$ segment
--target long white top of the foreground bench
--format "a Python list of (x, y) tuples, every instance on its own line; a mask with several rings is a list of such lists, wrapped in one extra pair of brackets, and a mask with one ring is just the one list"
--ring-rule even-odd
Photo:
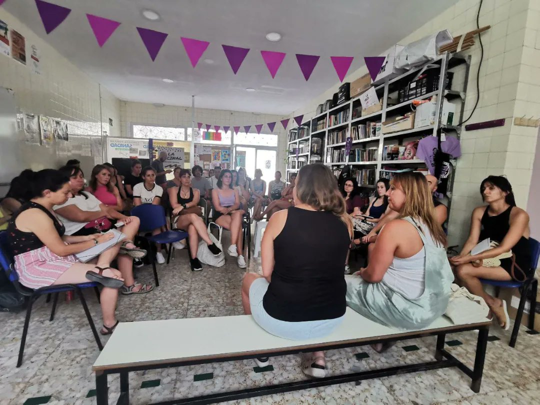
[[(483, 318), (468, 325), (484, 326), (491, 321)], [(159, 365), (174, 361), (219, 358), (245, 355), (246, 352), (264, 354), (279, 349), (309, 348), (321, 344), (362, 342), (362, 340), (396, 338), (440, 329), (458, 329), (441, 316), (425, 329), (403, 332), (370, 321), (347, 308), (341, 325), (322, 339), (288, 340), (278, 338), (262, 329), (251, 315), (220, 316), (215, 318), (187, 318), (162, 321), (123, 322), (99, 354), (92, 369)], [(140, 350), (144, 347), (144, 350)]]

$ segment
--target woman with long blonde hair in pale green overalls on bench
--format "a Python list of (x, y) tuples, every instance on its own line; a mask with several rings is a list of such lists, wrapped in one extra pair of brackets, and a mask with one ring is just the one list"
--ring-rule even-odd
[(382, 228), (368, 267), (345, 276), (347, 305), (386, 326), (423, 328), (448, 306), (454, 275), (446, 235), (421, 173), (396, 174), (387, 195), (399, 217)]

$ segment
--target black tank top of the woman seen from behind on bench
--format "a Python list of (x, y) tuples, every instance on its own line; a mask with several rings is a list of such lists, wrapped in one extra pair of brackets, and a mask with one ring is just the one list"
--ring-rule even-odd
[(343, 268), (347, 227), (331, 212), (288, 208), (274, 239), (274, 271), (262, 301), (265, 311), (288, 322), (335, 319), (345, 314)]

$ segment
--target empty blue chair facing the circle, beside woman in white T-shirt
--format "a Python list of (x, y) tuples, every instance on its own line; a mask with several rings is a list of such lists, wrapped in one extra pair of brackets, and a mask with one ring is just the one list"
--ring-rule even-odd
[(155, 244), (165, 244), (168, 246), (167, 264), (171, 259), (171, 247), (173, 242), (179, 242), (187, 238), (187, 232), (184, 231), (169, 231), (167, 230), (167, 220), (165, 219), (165, 210), (161, 205), (142, 204), (137, 207), (133, 207), (131, 210), (133, 217), (140, 219), (139, 232), (152, 232), (154, 229), (165, 227), (165, 232), (161, 232), (157, 235), (148, 237), (140, 237), (141, 240), (146, 241), (150, 258), (152, 259), (152, 268), (154, 271), (154, 280), (156, 281), (156, 287), (159, 287), (158, 272), (156, 269), (156, 257), (152, 253), (152, 246), (150, 242)]

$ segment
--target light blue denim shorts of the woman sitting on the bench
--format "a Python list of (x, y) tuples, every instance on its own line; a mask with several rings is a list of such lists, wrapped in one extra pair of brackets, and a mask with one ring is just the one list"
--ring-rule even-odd
[(323, 338), (332, 333), (345, 317), (343, 315), (335, 319), (302, 322), (288, 322), (272, 318), (262, 306), (262, 298), (265, 296), (268, 286), (269, 283), (265, 278), (261, 277), (253, 281), (253, 284), (249, 287), (249, 306), (251, 306), (251, 313), (255, 322), (266, 332), (279, 336), (279, 338), (290, 340)]

